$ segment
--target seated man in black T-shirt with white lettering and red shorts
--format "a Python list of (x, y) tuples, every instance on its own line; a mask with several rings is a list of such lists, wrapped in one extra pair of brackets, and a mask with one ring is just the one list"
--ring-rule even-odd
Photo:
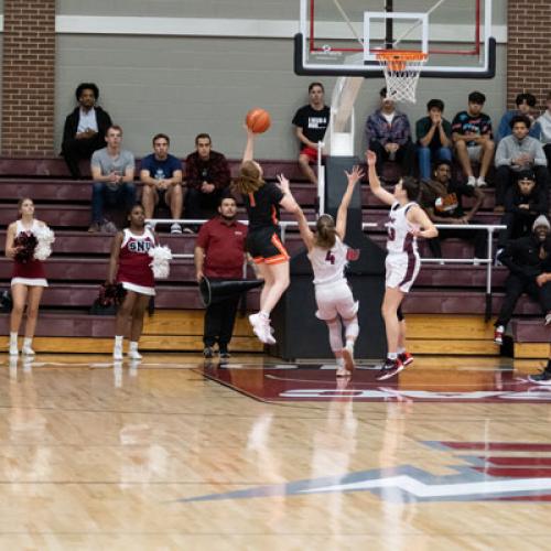
[(299, 166), (314, 184), (317, 184), (317, 176), (310, 164), (317, 163), (317, 142), (323, 141), (331, 116), (331, 109), (324, 104), (324, 93), (323, 84), (312, 83), (309, 86), (309, 105), (301, 107), (293, 117), (301, 148)]

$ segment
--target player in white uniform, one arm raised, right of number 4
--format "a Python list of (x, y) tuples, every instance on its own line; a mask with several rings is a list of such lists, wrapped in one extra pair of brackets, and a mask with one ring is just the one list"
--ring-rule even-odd
[(425, 212), (415, 203), (419, 196), (419, 182), (404, 177), (395, 186), (391, 194), (380, 185), (375, 170), (377, 155), (367, 151), (369, 186), (382, 203), (390, 205), (387, 226), (387, 260), (385, 299), (382, 317), (387, 332), (388, 356), (382, 365), (378, 380), (388, 379), (400, 372), (413, 361), (413, 356), (406, 350), (406, 321), (400, 304), (419, 273), (421, 262), (417, 248), (419, 236), (430, 239), (439, 235)]

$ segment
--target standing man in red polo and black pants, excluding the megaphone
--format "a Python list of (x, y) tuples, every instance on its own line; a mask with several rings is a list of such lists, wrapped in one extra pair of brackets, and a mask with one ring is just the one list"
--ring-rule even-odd
[[(195, 242), (195, 271), (198, 282), (203, 276), (210, 281), (244, 277), (247, 226), (236, 220), (236, 199), (223, 196), (218, 215), (203, 225)], [(205, 358), (213, 357), (216, 343), (220, 358), (229, 358), (228, 344), (234, 333), (238, 304), (239, 295), (207, 306), (203, 336)]]

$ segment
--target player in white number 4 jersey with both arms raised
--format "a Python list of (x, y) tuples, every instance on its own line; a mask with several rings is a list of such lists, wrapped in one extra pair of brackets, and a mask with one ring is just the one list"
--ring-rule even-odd
[[(352, 375), (354, 370), (354, 343), (359, 333), (358, 302), (354, 300), (346, 281), (344, 270), (348, 263), (348, 247), (343, 242), (346, 234), (346, 218), (354, 186), (364, 177), (364, 172), (354, 166), (350, 173), (345, 172), (348, 186), (337, 210), (336, 223), (332, 216), (324, 214), (317, 218), (314, 235), (300, 209), (295, 216), (307, 256), (314, 271), (316, 317), (327, 324), (329, 345), (337, 360), (337, 377)], [(346, 345), (343, 346), (343, 325)]]

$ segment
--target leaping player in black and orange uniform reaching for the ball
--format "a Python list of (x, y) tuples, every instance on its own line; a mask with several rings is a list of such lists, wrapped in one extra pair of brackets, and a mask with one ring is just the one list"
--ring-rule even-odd
[(270, 326), (270, 313), (289, 287), (289, 255), (281, 242), (279, 212), (283, 207), (295, 213), (299, 205), (289, 191), (289, 181), (278, 176), (279, 185), (264, 182), (262, 168), (252, 160), (255, 134), (247, 128), (239, 176), (235, 188), (242, 195), (249, 217), (247, 251), (264, 280), (260, 293), (260, 311), (249, 315), (252, 331), (264, 344), (276, 344)]

